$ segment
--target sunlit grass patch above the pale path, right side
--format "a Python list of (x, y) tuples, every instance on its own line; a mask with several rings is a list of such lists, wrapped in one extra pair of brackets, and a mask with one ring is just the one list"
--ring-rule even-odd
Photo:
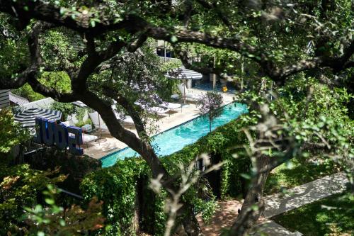
[(265, 183), (264, 194), (278, 193), (282, 189), (292, 189), (323, 176), (339, 172), (333, 162), (314, 164), (292, 159), (275, 168)]

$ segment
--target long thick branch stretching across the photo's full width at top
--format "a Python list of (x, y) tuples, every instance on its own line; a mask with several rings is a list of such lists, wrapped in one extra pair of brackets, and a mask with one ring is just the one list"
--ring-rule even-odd
[[(144, 37), (150, 36), (155, 39), (166, 40), (172, 44), (176, 42), (201, 43), (210, 47), (233, 50), (258, 62), (265, 73), (278, 84), (283, 84), (285, 79), (290, 75), (307, 69), (331, 67), (333, 72), (339, 72), (353, 65), (353, 63), (345, 63), (348, 57), (353, 54), (353, 52), (350, 53), (352, 50), (348, 50), (348, 53), (340, 58), (341, 60), (338, 60), (338, 58), (314, 57), (310, 60), (303, 60), (296, 64), (278, 68), (263, 49), (248, 45), (237, 38), (220, 38), (188, 29), (168, 30), (166, 28), (152, 26), (150, 23), (147, 23), (147, 21), (144, 21), (143, 18), (135, 15), (127, 15), (118, 23), (115, 23), (113, 20), (105, 19), (103, 21), (102, 19), (95, 27), (91, 27), (88, 23), (91, 21), (90, 16), (86, 16), (84, 13), (76, 13), (76, 18), (73, 19), (69, 17), (69, 13), (62, 15), (58, 7), (45, 4), (42, 1), (31, 2), (28, 11), (24, 10), (25, 7), (28, 7), (26, 4), (28, 4), (27, 1), (14, 2), (3, 0), (0, 1), (0, 11), (10, 13), (18, 18), (37, 18), (48, 21), (58, 26), (72, 28), (73, 30), (86, 33), (93, 37), (110, 30), (125, 29), (128, 33), (143, 32)], [(345, 66), (343, 66), (343, 63)], [(92, 64), (88, 63), (86, 69), (90, 67), (92, 67)], [(84, 73), (84, 75), (86, 74), (84, 71), (82, 73)]]

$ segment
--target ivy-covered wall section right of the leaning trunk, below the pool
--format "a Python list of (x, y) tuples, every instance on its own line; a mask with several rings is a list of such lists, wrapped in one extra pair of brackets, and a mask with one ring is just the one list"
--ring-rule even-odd
[(241, 186), (244, 181), (242, 176), (249, 172), (251, 164), (244, 153), (244, 144), (248, 140), (241, 128), (251, 125), (251, 122), (246, 116), (241, 116), (241, 118), (233, 120), (227, 125), (217, 128), (209, 135), (200, 138), (193, 145), (188, 145), (183, 150), (164, 157), (164, 163), (168, 164), (169, 167), (176, 167), (176, 163), (188, 163), (202, 153), (210, 154), (211, 158), (219, 155), (221, 157), (220, 161), (226, 161), (222, 166), (219, 183), (221, 198), (239, 196), (242, 193)]

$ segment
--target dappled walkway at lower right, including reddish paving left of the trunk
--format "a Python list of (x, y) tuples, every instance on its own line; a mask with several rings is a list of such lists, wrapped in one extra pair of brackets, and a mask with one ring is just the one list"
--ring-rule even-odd
[[(265, 196), (264, 218), (260, 219), (260, 223), (252, 230), (253, 233), (250, 233), (250, 235), (264, 235), (262, 232), (268, 236), (302, 235), (299, 232), (290, 232), (268, 218), (318, 201), (321, 198), (341, 193), (346, 189), (347, 182), (346, 174), (339, 172), (290, 189), (286, 195), (275, 193)], [(241, 208), (241, 204), (241, 202), (235, 200), (219, 202), (217, 211), (208, 225), (202, 223), (199, 218), (198, 221), (204, 235), (216, 236), (222, 232), (222, 228), (230, 227), (236, 219), (237, 209)]]

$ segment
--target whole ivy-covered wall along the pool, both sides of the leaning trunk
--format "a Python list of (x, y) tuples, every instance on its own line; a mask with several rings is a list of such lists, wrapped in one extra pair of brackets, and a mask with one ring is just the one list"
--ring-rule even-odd
[[(173, 174), (178, 172), (178, 163), (188, 164), (202, 153), (211, 154), (211, 157), (218, 154), (221, 161), (227, 161), (220, 173), (221, 197), (238, 196), (242, 193), (243, 183), (240, 174), (249, 170), (249, 160), (239, 152), (246, 143), (246, 137), (240, 129), (250, 122), (246, 118), (233, 120), (193, 145), (161, 157), (161, 161)], [(236, 150), (239, 154), (237, 158), (232, 155)], [(147, 164), (139, 158), (120, 160), (113, 167), (86, 175), (81, 182), (81, 193), (87, 201), (93, 196), (104, 201), (103, 214), (106, 223), (110, 225), (110, 229), (106, 231), (107, 235), (132, 235), (137, 231), (137, 227), (153, 235), (161, 235), (164, 232), (164, 193), (161, 196), (152, 193), (148, 187), (150, 176)], [(198, 189), (190, 189), (185, 194), (185, 200), (190, 201), (200, 213), (210, 213), (211, 206), (201, 201), (196, 196), (197, 192)]]

